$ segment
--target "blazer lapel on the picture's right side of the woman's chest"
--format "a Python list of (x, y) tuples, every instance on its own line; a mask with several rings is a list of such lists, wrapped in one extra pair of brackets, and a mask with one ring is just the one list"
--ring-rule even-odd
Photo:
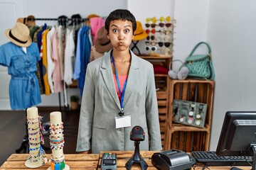
[(132, 90), (134, 89), (134, 86), (139, 79), (139, 60), (131, 50), (130, 50), (130, 53), (132, 55), (132, 62), (131, 62), (131, 67), (129, 69), (127, 86), (124, 92), (124, 106), (125, 106), (125, 103), (127, 103), (129, 96), (131, 96)]

